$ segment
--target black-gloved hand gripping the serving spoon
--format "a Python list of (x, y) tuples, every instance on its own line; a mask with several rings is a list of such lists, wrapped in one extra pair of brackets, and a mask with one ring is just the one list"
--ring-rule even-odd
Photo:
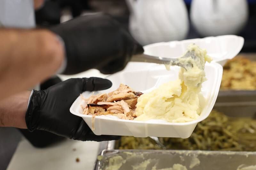
[(119, 23), (102, 13), (74, 18), (50, 28), (64, 41), (67, 67), (63, 74), (98, 69), (103, 74), (123, 70), (142, 46)]

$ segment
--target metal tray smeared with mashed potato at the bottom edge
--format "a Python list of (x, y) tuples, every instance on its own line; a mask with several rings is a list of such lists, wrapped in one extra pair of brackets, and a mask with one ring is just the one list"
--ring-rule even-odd
[[(104, 150), (94, 170), (106, 170), (110, 158), (121, 156), (125, 161), (120, 170), (133, 169), (148, 162), (147, 170), (170, 168), (173, 164), (186, 166), (190, 170), (242, 170), (256, 168), (256, 152), (229, 151), (178, 151), (178, 150)], [(140, 168), (138, 168), (140, 169)], [(144, 169), (144, 168), (142, 168)]]

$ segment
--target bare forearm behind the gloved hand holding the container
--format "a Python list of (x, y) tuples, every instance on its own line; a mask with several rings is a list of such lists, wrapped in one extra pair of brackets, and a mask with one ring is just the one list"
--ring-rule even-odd
[(30, 91), (20, 92), (0, 101), (0, 127), (26, 129), (25, 115)]

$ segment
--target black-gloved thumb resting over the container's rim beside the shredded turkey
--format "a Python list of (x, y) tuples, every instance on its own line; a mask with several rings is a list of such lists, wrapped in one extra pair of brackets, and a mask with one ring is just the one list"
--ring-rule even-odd
[(112, 82), (104, 78), (83, 78), (83, 92), (84, 91), (98, 91), (105, 90), (112, 86)]

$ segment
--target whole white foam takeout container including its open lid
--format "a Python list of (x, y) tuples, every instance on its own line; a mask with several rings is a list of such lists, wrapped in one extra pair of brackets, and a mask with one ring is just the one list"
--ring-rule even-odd
[[(200, 92), (204, 97), (204, 104), (197, 120), (185, 123), (170, 123), (164, 120), (139, 122), (121, 120), (110, 115), (101, 115), (95, 118), (95, 129), (92, 130), (93, 133), (96, 135), (134, 137), (189, 137), (196, 124), (207, 118), (212, 111), (220, 88), (222, 78), (221, 66), (240, 52), (244, 45), (244, 38), (236, 35), (223, 35), (202, 39), (160, 42), (144, 46), (144, 53), (177, 58), (186, 51), (187, 46), (191, 43), (195, 43), (200, 48), (206, 48), (208, 54), (213, 59), (212, 63), (206, 63), (205, 65), (206, 78), (208, 80), (203, 83), (202, 92)], [(120, 83), (129, 85), (136, 91), (149, 92), (164, 82), (178, 78), (179, 69), (179, 67), (175, 66), (170, 71), (167, 71), (163, 65), (132, 62), (123, 71), (108, 76), (113, 86), (108, 90), (101, 91), (101, 93), (116, 90)], [(97, 93), (95, 92), (95, 94)], [(82, 95), (88, 98), (92, 95), (92, 92), (84, 92)], [(82, 114), (81, 104), (83, 102), (79, 96), (70, 107), (70, 112), (82, 117), (92, 129), (92, 116)]]

